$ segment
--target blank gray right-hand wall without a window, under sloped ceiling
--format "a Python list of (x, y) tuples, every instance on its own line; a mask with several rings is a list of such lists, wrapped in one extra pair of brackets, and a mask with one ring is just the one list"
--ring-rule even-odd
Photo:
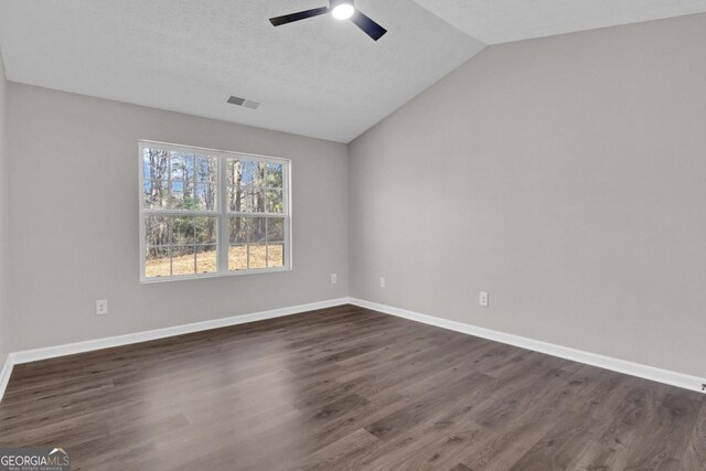
[(706, 375), (703, 44), (702, 14), (491, 46), (353, 141), (352, 296)]

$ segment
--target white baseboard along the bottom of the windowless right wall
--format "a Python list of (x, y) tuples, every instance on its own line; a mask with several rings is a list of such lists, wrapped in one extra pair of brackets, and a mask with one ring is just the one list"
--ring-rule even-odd
[(361, 308), (372, 309), (374, 311), (397, 315), (399, 318), (409, 319), (411, 321), (422, 322), (425, 324), (435, 325), (469, 335), (480, 336), (483, 339), (506, 343), (509, 345), (520, 346), (522, 349), (532, 350), (539, 353), (546, 353), (547, 355), (558, 356), (561, 358), (571, 360), (574, 362), (579, 362), (631, 376), (638, 376), (644, 379), (655, 381), (657, 383), (682, 387), (684, 389), (703, 393), (702, 385), (706, 384), (706, 378), (699, 378), (697, 376), (692, 376), (684, 373), (676, 373), (668, 370), (662, 370), (654, 366), (629, 362), (625, 360), (619, 360), (610, 356), (599, 355), (596, 353), (585, 352), (582, 350), (576, 350), (568, 346), (556, 345), (554, 343), (542, 342), (520, 335), (483, 329), (462, 322), (450, 321), (448, 319), (436, 318), (434, 315), (421, 314), (419, 312), (413, 312), (405, 309), (393, 308), (391, 306), (378, 304), (376, 302), (364, 301), (362, 299), (350, 298), (349, 302)]

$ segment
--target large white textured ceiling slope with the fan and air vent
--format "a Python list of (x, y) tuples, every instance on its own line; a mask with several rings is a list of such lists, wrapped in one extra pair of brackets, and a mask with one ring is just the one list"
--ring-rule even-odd
[[(372, 41), (328, 0), (0, 0), (10, 81), (349, 142), (483, 44), (413, 0), (357, 0)], [(226, 105), (229, 95), (261, 101)]]

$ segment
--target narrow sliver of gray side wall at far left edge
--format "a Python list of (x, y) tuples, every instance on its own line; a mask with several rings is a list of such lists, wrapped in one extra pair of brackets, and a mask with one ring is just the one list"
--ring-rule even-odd
[(8, 244), (8, 211), (7, 197), (7, 152), (6, 152), (6, 116), (7, 116), (7, 81), (4, 77), (4, 63), (0, 53), (0, 371), (4, 366), (9, 353), (8, 339), (8, 302), (7, 302), (7, 244)]

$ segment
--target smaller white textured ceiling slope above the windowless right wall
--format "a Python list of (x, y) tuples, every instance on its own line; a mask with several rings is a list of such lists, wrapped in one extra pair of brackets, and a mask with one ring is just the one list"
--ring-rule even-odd
[(706, 0), (415, 0), (485, 44), (706, 12)]

